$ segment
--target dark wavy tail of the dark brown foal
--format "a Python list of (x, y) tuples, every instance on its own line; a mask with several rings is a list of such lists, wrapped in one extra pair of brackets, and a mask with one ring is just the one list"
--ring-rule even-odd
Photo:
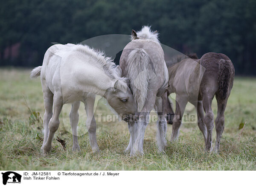
[(218, 94), (221, 99), (227, 97), (227, 89), (230, 84), (231, 73), (231, 61), (221, 59), (219, 61), (218, 69)]

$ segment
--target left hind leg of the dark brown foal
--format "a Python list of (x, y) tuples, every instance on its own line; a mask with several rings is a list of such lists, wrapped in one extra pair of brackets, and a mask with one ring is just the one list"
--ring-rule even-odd
[(212, 151), (212, 129), (214, 126), (213, 125), (214, 114), (212, 112), (212, 107), (211, 107), (212, 99), (213, 99), (213, 96), (203, 96), (203, 106), (205, 110), (204, 123), (207, 128), (205, 151)]

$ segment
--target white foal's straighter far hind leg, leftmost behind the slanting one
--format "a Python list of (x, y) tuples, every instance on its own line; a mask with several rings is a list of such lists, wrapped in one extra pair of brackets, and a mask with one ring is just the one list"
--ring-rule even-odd
[(53, 102), (53, 93), (49, 90), (48, 87), (44, 88), (44, 141), (41, 147), (41, 151), (44, 151), (44, 144), (47, 141), (49, 135), (49, 121), (52, 118), (52, 102)]

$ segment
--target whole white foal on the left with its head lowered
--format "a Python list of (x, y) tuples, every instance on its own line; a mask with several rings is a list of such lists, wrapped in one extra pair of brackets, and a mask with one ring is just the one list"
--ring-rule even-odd
[[(41, 150), (51, 150), (52, 138), (59, 126), (62, 106), (72, 103), (70, 124), (73, 133), (73, 151), (80, 150), (77, 139), (78, 109), (84, 103), (86, 126), (93, 151), (99, 151), (96, 141), (96, 121), (93, 113), (95, 94), (107, 99), (120, 115), (137, 111), (133, 95), (121, 69), (111, 58), (84, 45), (53, 45), (44, 55), (43, 65), (31, 72), (31, 78), (41, 75), (44, 92), (44, 142)], [(53, 105), (53, 113), (52, 113)], [(127, 116), (128, 117), (128, 116)]]

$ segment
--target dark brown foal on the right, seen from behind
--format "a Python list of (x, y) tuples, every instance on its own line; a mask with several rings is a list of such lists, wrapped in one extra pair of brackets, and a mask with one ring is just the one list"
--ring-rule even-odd
[[(166, 63), (168, 64), (168, 63)], [(168, 67), (168, 66), (167, 66)], [(168, 67), (169, 88), (166, 93), (176, 93), (176, 110), (172, 123), (172, 140), (177, 139), (187, 102), (195, 105), (198, 114), (198, 127), (204, 135), (205, 150), (212, 151), (212, 130), (214, 114), (212, 99), (216, 97), (218, 113), (215, 119), (216, 144), (219, 150), (221, 135), (224, 131), (224, 111), (227, 99), (233, 87), (235, 69), (231, 60), (224, 54), (209, 52), (200, 59), (186, 58)], [(173, 114), (172, 106), (167, 99), (166, 113)], [(180, 119), (177, 119), (180, 118)]]

